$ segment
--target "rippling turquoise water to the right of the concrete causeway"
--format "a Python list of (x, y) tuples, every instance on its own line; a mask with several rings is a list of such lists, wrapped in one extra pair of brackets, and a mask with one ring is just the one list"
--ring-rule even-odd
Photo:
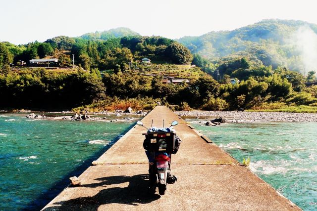
[(248, 123), (208, 127), (201, 133), (305, 211), (317, 210), (317, 123)]

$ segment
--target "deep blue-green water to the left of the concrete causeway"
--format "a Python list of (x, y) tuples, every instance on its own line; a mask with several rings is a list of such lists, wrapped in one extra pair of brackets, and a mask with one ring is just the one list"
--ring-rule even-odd
[(40, 210), (133, 122), (29, 120), (0, 114), (0, 210)]

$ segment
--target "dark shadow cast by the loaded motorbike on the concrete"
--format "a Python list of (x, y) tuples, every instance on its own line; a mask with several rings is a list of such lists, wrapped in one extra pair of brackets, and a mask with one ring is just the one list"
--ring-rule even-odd
[[(138, 174), (134, 176), (108, 176), (98, 178), (100, 182), (81, 185), (80, 187), (96, 188), (104, 186), (93, 197), (79, 197), (68, 201), (56, 202), (53, 207), (47, 208), (44, 211), (68, 211), (68, 210), (98, 210), (101, 205), (106, 204), (126, 204), (138, 206), (138, 204), (148, 204), (158, 200), (158, 194), (150, 194), (148, 192), (149, 178), (147, 174)], [(129, 182), (127, 187), (110, 187), (108, 185), (116, 185)], [(79, 188), (80, 188), (79, 187)]]

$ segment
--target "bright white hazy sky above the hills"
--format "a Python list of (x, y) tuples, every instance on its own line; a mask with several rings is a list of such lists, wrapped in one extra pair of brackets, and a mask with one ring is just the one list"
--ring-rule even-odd
[(315, 0), (0, 0), (0, 41), (44, 42), (117, 27), (174, 39), (270, 18), (317, 24), (316, 8)]

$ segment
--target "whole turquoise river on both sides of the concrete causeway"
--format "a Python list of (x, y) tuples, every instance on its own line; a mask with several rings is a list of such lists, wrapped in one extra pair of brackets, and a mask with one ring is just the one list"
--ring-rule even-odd
[[(250, 169), (300, 208), (317, 210), (317, 123), (186, 121), (239, 162), (250, 157)], [(133, 124), (0, 114), (0, 211), (43, 208)]]

